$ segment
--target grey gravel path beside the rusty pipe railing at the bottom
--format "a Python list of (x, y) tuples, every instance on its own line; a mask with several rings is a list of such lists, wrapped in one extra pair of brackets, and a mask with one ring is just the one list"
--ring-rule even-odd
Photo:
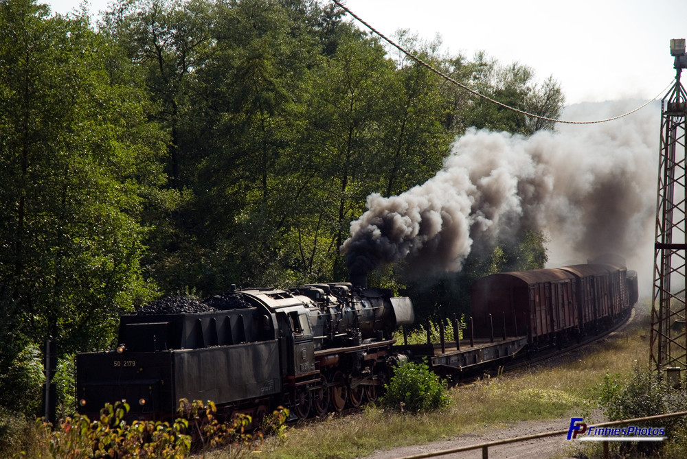
[[(477, 445), (505, 438), (515, 438), (543, 432), (567, 429), (570, 426), (570, 418), (548, 419), (545, 421), (521, 421), (506, 427), (485, 427), (483, 432), (478, 434), (462, 435), (460, 438), (450, 438), (440, 440), (427, 445), (415, 445), (398, 447), (386, 451), (377, 451), (372, 456), (364, 459), (396, 459), (416, 454), (427, 454), (431, 452), (444, 451), (447, 449), (462, 446)], [(526, 440), (508, 445), (498, 445), (488, 449), (490, 459), (547, 459), (547, 458), (566, 458), (567, 455), (574, 454), (571, 442), (566, 440), (565, 435), (538, 438), (537, 440)], [(481, 459), (482, 449), (466, 451), (462, 453), (447, 454), (438, 456), (440, 458), (451, 459)]]

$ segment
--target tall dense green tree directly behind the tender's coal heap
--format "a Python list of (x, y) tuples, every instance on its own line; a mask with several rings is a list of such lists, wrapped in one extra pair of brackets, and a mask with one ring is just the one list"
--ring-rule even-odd
[(306, 7), (245, 0), (212, 10), (212, 49), (183, 110), (179, 150), (192, 170), (183, 239), (154, 267), (167, 290), (286, 282), (281, 239), (308, 176), (295, 146), (300, 98), (319, 54)]

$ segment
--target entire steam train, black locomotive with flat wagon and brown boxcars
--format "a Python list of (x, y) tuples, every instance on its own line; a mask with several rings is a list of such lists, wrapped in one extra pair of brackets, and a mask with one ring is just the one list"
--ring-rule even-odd
[(412, 303), (390, 290), (351, 283), (233, 290), (209, 298), (207, 311), (122, 316), (116, 350), (76, 357), (77, 408), (94, 416), (126, 399), (131, 419), (169, 419), (185, 398), (214, 401), (227, 417), (260, 419), (284, 405), (306, 419), (376, 400), (398, 362), (423, 360), (459, 379), (593, 336), (637, 296), (636, 273), (622, 259), (493, 274), (473, 285), (463, 340), (441, 333), (440, 343), (409, 345), (396, 344), (393, 333), (414, 322)]

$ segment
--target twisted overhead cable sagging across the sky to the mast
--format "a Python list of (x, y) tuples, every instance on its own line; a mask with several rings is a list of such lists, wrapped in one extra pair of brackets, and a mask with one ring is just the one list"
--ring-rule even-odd
[(406, 56), (408, 56), (409, 58), (411, 58), (411, 59), (414, 60), (415, 62), (418, 62), (418, 64), (420, 64), (420, 65), (422, 65), (423, 67), (427, 68), (429, 71), (431, 71), (431, 72), (433, 72), (433, 73), (436, 73), (436, 74), (439, 75), (441, 78), (444, 78), (444, 80), (447, 80), (448, 82), (451, 82), (451, 83), (455, 84), (456, 86), (459, 86), (460, 88), (464, 89), (465, 91), (468, 91), (469, 93), (471, 93), (471, 94), (473, 94), (473, 95), (476, 95), (477, 97), (481, 97), (482, 99), (484, 99), (484, 100), (486, 100), (486, 101), (488, 101), (488, 102), (491, 102), (491, 103), (493, 103), (493, 104), (496, 104), (496, 105), (498, 105), (498, 106), (500, 106), (500, 107), (502, 107), (502, 108), (506, 108), (506, 109), (508, 109), (508, 110), (512, 110), (512, 111), (515, 112), (515, 113), (520, 113), (521, 115), (526, 115), (526, 116), (528, 116), (528, 117), (541, 119), (541, 120), (543, 120), (543, 121), (551, 121), (551, 122), (553, 122), (553, 123), (566, 123), (566, 124), (595, 124), (595, 123), (605, 123), (605, 122), (607, 122), (607, 121), (613, 121), (614, 119), (620, 119), (620, 118), (622, 118), (622, 117), (627, 117), (627, 115), (631, 115), (632, 113), (635, 113), (636, 111), (641, 110), (642, 108), (644, 108), (644, 107), (646, 107), (647, 105), (651, 104), (651, 102), (653, 102), (653, 101), (655, 101), (656, 99), (658, 99), (658, 98), (666, 91), (666, 89), (668, 89), (668, 86), (671, 86), (671, 84), (673, 84), (673, 82), (669, 83), (664, 89), (661, 90), (660, 93), (658, 93), (655, 97), (653, 97), (653, 99), (651, 99), (651, 100), (649, 100), (648, 102), (646, 102), (646, 104), (643, 104), (642, 106), (639, 106), (639, 107), (635, 108), (634, 110), (630, 110), (629, 112), (623, 113), (622, 115), (618, 115), (618, 116), (616, 116), (616, 117), (607, 118), (607, 119), (598, 119), (598, 120), (595, 120), (595, 121), (570, 121), (570, 120), (565, 120), (565, 119), (556, 119), (556, 118), (543, 117), (543, 116), (537, 115), (537, 114), (535, 114), (535, 113), (526, 112), (525, 110), (520, 110), (519, 108), (515, 108), (515, 107), (513, 107), (513, 106), (506, 105), (506, 104), (504, 104), (503, 102), (499, 102), (499, 101), (497, 101), (496, 99), (492, 99), (491, 97), (488, 97), (487, 95), (484, 95), (484, 94), (482, 94), (482, 93), (479, 93), (479, 92), (475, 91), (474, 89), (471, 89), (469, 86), (466, 86), (465, 84), (462, 84), (462, 83), (459, 82), (458, 80), (454, 80), (454, 79), (451, 78), (449, 75), (443, 73), (443, 72), (440, 71), (439, 69), (436, 69), (436, 67), (433, 67), (431, 64), (428, 64), (427, 62), (425, 62), (424, 60), (420, 59), (420, 58), (419, 58), (418, 56), (416, 56), (415, 54), (412, 54), (412, 52), (408, 51), (407, 49), (405, 49), (405, 48), (402, 47), (401, 45), (398, 45), (398, 43), (394, 42), (394, 40), (388, 38), (387, 36), (385, 36), (384, 34), (382, 34), (381, 32), (379, 32), (379, 30), (376, 30), (374, 27), (372, 27), (372, 25), (370, 25), (370, 24), (368, 24), (367, 22), (365, 22), (363, 19), (361, 19), (360, 16), (357, 16), (357, 14), (355, 14), (354, 12), (352, 12), (348, 7), (346, 7), (346, 5), (343, 5), (343, 3), (341, 3), (340, 1), (338, 1), (338, 0), (332, 0), (332, 1), (333, 1), (333, 3), (335, 3), (337, 6), (339, 6), (339, 8), (341, 8), (343, 11), (345, 11), (345, 12), (348, 13), (350, 16), (352, 16), (352, 18), (356, 19), (359, 23), (363, 24), (365, 27), (367, 27), (368, 29), (370, 29), (374, 34), (376, 34), (377, 36), (379, 36), (379, 38), (382, 38), (382, 39), (385, 40), (387, 43), (389, 43), (390, 45), (392, 45), (393, 47), (395, 47), (396, 49), (398, 49), (398, 51), (401, 51), (403, 54), (405, 54)]

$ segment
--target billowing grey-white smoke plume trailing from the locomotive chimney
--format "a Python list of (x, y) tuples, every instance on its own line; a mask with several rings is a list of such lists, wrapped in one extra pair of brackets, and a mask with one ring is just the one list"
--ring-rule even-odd
[[(601, 119), (639, 104), (578, 104), (563, 117)], [(659, 139), (657, 102), (528, 138), (469, 130), (423, 185), (368, 196), (343, 244), (348, 268), (365, 274), (405, 260), (418, 272), (458, 271), (471, 251), (532, 228), (550, 239), (552, 265), (613, 252), (651, 281)]]

